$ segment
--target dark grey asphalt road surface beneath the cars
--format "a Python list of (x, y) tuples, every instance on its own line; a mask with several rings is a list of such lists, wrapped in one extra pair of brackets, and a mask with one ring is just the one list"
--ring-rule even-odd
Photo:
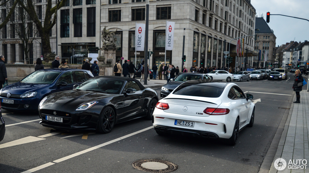
[[(45, 168), (35, 172), (138, 173), (142, 171), (132, 167), (134, 161), (162, 159), (175, 163), (178, 169), (174, 172), (179, 173), (256, 173), (284, 108), (289, 107), (294, 95), (294, 78), (290, 73), (289, 77), (282, 81), (235, 82), (244, 92), (252, 94), (253, 100), (261, 100), (256, 103), (254, 126), (240, 131), (235, 146), (228, 146), (219, 139), (159, 136), (151, 128), (151, 121), (145, 119), (116, 124), (109, 134), (60, 132), (42, 127), (39, 121), (11, 125), (39, 117), (31, 112), (11, 114), (2, 110), (6, 125), (11, 126), (6, 127), (6, 135), (0, 142), (0, 172), (19, 173), (43, 165)], [(159, 94), (160, 89), (156, 91)], [(57, 134), (41, 136), (52, 132)], [(18, 142), (23, 144), (16, 145)], [(1, 144), (9, 147), (1, 148)]]

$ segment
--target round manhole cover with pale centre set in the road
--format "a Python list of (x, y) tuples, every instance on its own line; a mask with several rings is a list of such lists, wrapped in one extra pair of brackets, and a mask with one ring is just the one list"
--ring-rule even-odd
[(142, 159), (132, 163), (135, 169), (145, 172), (172, 172), (177, 169), (177, 165), (171, 162), (158, 159)]

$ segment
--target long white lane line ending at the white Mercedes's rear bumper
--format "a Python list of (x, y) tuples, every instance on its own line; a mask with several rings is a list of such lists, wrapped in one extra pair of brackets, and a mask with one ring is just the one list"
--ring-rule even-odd
[(74, 154), (72, 154), (72, 155), (68, 155), (68, 156), (63, 157), (63, 158), (61, 158), (61, 159), (57, 159), (57, 160), (55, 160), (55, 161), (53, 161), (53, 162), (55, 162), (55, 163), (62, 162), (62, 161), (64, 161), (64, 160), (73, 158), (73, 157), (75, 157), (75, 156), (78, 156), (78, 155), (87, 153), (87, 152), (89, 152), (89, 151), (98, 149), (98, 148), (103, 147), (103, 146), (105, 146), (105, 145), (108, 145), (108, 144), (117, 142), (117, 141), (119, 141), (119, 140), (121, 140), (121, 139), (125, 139), (125, 138), (128, 138), (128, 137), (130, 137), (130, 136), (136, 135), (136, 134), (138, 134), (138, 133), (141, 133), (141, 132), (143, 132), (143, 131), (149, 130), (149, 129), (151, 129), (151, 128), (153, 128), (153, 126), (150, 126), (150, 127), (145, 128), (145, 129), (142, 129), (142, 130), (140, 130), (140, 131), (136, 131), (136, 132), (134, 132), (134, 133), (131, 133), (131, 134), (129, 134), (129, 135), (125, 135), (125, 136), (122, 136), (122, 137), (120, 137), (120, 138), (117, 138), (117, 139), (108, 141), (108, 142), (106, 142), (106, 143), (102, 143), (102, 144), (97, 145), (97, 146), (95, 146), (95, 147), (91, 147), (91, 148), (88, 148), (88, 149), (86, 149), (86, 150), (79, 151), (79, 152), (77, 152), (77, 153), (74, 153)]

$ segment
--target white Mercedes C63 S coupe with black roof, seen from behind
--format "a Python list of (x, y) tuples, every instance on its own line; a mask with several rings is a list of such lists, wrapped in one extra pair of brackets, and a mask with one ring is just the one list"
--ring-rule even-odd
[(191, 133), (205, 138), (224, 138), (235, 145), (239, 131), (253, 126), (253, 96), (235, 83), (190, 80), (161, 99), (153, 112), (159, 135)]

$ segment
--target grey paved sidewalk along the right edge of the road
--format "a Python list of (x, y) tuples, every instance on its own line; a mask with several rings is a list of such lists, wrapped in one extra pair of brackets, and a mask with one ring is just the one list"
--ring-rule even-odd
[[(273, 161), (278, 157), (286, 159), (289, 163), (290, 159), (306, 159), (309, 166), (309, 92), (305, 90), (300, 92), (300, 103), (292, 103), (289, 113), (286, 117), (283, 116), (281, 122), (285, 122), (284, 127), (280, 123), (278, 130), (282, 128), (280, 140), (276, 135), (271, 143), (269, 151), (266, 154), (265, 159), (260, 167), (259, 173), (309, 173), (309, 167), (307, 169), (288, 169), (284, 171), (277, 171), (273, 167)], [(293, 96), (293, 101), (296, 100), (296, 95)], [(282, 123), (283, 124), (283, 123)], [(272, 146), (273, 143), (278, 142), (277, 149)], [(288, 164), (289, 165), (289, 164)], [(298, 164), (299, 165), (299, 164)], [(302, 165), (302, 164), (301, 164)]]

